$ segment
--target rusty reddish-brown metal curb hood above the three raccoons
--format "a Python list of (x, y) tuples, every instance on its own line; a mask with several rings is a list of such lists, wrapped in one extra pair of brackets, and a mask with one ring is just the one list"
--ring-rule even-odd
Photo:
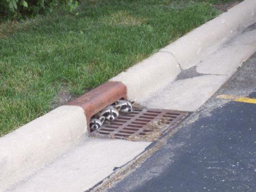
[(67, 105), (81, 106), (86, 114), (87, 129), (90, 133), (89, 123), (91, 117), (121, 98), (126, 99), (126, 87), (124, 84), (117, 81), (109, 81), (70, 101)]

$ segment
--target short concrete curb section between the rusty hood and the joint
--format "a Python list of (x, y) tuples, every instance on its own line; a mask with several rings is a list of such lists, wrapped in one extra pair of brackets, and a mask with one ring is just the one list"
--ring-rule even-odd
[(180, 71), (172, 54), (158, 52), (110, 80), (122, 82), (127, 97), (140, 102), (169, 79), (175, 79)]

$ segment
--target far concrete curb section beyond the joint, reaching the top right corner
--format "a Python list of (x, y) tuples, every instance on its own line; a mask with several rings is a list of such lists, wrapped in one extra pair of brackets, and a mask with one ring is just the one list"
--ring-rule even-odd
[(255, 21), (256, 1), (245, 0), (160, 51), (172, 53), (178, 59), (181, 68), (188, 69), (198, 61), (198, 56), (205, 49), (218, 46)]

